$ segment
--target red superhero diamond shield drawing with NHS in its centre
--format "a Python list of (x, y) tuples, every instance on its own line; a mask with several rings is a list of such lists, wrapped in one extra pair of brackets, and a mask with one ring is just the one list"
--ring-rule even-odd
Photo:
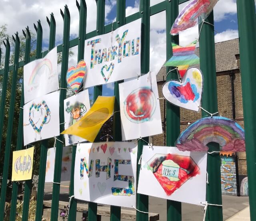
[(147, 164), (168, 196), (200, 174), (200, 168), (190, 156), (155, 154)]

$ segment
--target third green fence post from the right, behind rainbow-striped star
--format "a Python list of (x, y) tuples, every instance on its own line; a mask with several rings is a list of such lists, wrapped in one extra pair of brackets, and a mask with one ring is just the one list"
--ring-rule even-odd
[[(179, 36), (172, 36), (170, 29), (179, 13), (178, 0), (166, 0), (166, 59), (172, 55), (172, 42), (178, 44)], [(166, 67), (166, 81), (178, 79), (175, 67)], [(169, 71), (171, 71), (169, 73)], [(166, 146), (174, 146), (180, 134), (180, 108), (166, 102)], [(181, 202), (167, 200), (167, 220), (181, 221)]]

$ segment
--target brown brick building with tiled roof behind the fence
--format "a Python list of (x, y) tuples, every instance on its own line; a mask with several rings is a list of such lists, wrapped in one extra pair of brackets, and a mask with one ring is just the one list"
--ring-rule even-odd
[[(196, 54), (199, 56), (199, 48), (196, 48)], [(240, 57), (238, 39), (222, 41), (215, 44), (216, 57), (216, 76), (217, 76), (217, 94), (218, 94), (218, 111), (220, 115), (234, 118), (238, 124), (244, 127), (243, 106), (242, 106), (242, 88), (240, 75)], [(199, 67), (199, 65), (198, 65)], [(203, 73), (204, 74), (204, 73)], [(166, 81), (166, 67), (162, 67), (157, 75), (159, 97), (162, 95), (162, 85)], [(162, 125), (165, 125), (164, 106), (166, 100), (160, 99), (160, 109), (162, 115)], [(194, 122), (201, 118), (201, 111), (194, 112), (180, 108), (180, 130), (183, 131), (188, 122)], [(152, 136), (152, 143), (156, 146), (165, 146), (165, 133)], [(246, 154), (245, 152), (221, 154), (221, 175), (222, 193), (227, 195), (240, 195), (240, 183), (247, 176)], [(230, 164), (236, 168), (228, 174), (225, 173), (225, 165)], [(226, 178), (233, 176), (234, 179)], [(238, 176), (239, 175), (239, 176)], [(223, 183), (226, 181), (225, 183)], [(236, 184), (238, 185), (238, 191)], [(232, 188), (229, 188), (232, 186)], [(225, 189), (224, 189), (225, 188)], [(247, 190), (246, 190), (247, 191)]]

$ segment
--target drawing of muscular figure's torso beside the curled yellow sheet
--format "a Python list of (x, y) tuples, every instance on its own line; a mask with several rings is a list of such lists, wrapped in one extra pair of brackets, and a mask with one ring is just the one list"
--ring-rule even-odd
[[(74, 104), (70, 105), (70, 101), (66, 103), (66, 112), (70, 113), (70, 120), (68, 126), (73, 125), (78, 120), (82, 118), (82, 116), (86, 112), (86, 107), (83, 103), (76, 101)], [(68, 134), (69, 143), (73, 142), (73, 135)]]

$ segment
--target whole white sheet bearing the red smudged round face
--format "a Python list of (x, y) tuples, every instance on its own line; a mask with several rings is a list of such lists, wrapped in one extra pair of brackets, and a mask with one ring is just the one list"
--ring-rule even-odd
[(158, 88), (154, 73), (119, 84), (119, 93), (122, 140), (162, 133)]

